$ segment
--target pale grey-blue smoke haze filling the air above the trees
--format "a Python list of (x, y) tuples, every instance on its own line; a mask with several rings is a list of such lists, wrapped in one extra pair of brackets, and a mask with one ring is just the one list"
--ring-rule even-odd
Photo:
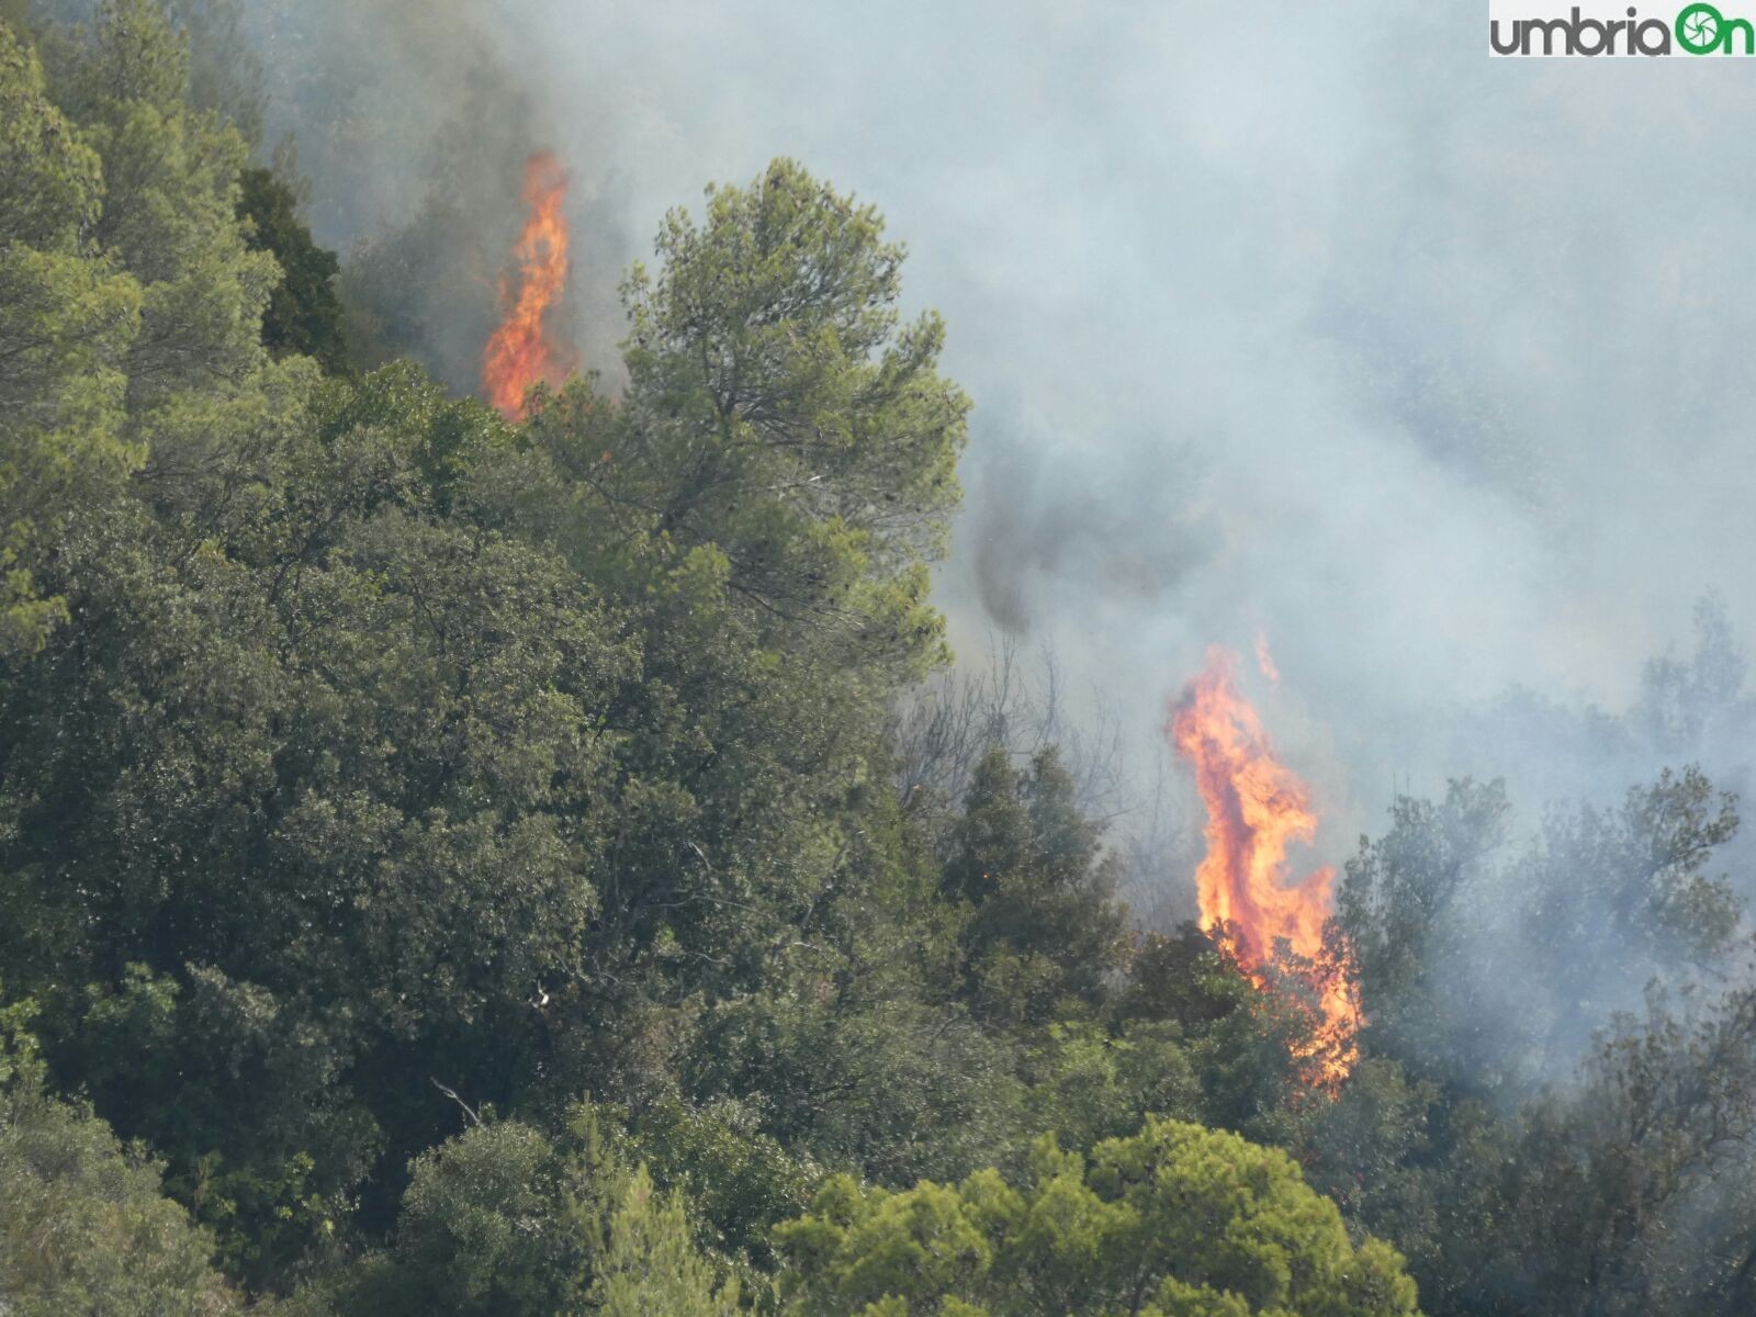
[(1482, 767), (1456, 706), (1619, 708), (1705, 590), (1749, 622), (1756, 63), (1489, 60), (1480, 9), (1407, 0), (253, 9), (367, 70), (349, 109), (270, 61), (302, 140), (351, 116), (346, 198), (306, 153), (342, 246), (406, 218), (460, 70), (529, 100), (606, 367), (706, 181), (792, 155), (876, 202), (976, 400), (962, 648), (1052, 644), (1145, 745), (1264, 629), (1336, 855)]

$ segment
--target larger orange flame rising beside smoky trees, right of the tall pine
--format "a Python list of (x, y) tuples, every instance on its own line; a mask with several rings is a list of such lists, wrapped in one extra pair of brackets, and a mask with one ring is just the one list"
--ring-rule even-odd
[(1201, 927), (1219, 931), (1261, 985), (1280, 943), (1298, 957), (1319, 1015), (1306, 1059), (1321, 1082), (1335, 1085), (1354, 1064), (1361, 1022), (1349, 966), (1324, 954), (1335, 869), (1285, 885), (1287, 845), (1315, 836), (1317, 813), (1310, 790), (1275, 757), (1233, 669), (1233, 655), (1208, 650), (1206, 671), (1184, 688), (1168, 729), (1177, 752), (1194, 764), (1206, 804), (1208, 852), (1196, 869)]

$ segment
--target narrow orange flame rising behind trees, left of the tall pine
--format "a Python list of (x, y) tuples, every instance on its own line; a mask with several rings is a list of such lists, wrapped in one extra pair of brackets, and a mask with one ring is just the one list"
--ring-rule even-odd
[(544, 316), (567, 286), (567, 216), (562, 200), (567, 176), (553, 155), (543, 151), (525, 162), (525, 205), (530, 218), (518, 235), (518, 291), (500, 283), (506, 318), (488, 339), (481, 356), (481, 386), (506, 420), (525, 416), (525, 390), (534, 383), (558, 385), (574, 363), (572, 348), (551, 339)]

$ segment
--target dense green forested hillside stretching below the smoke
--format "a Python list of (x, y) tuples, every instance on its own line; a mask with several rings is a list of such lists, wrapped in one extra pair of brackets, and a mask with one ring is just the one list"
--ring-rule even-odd
[(709, 190), (513, 423), (362, 369), (190, 68), (0, 21), (0, 1313), (1756, 1310), (1698, 771), (1398, 802), (1326, 1076), (1054, 750), (906, 762), (971, 404), (873, 207)]

